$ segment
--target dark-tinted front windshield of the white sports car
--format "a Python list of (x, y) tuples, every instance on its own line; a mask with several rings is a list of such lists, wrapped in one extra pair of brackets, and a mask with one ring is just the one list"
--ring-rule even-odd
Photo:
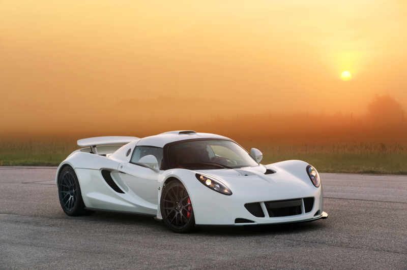
[(209, 170), (256, 166), (257, 162), (238, 144), (230, 141), (192, 141), (168, 147), (170, 168)]

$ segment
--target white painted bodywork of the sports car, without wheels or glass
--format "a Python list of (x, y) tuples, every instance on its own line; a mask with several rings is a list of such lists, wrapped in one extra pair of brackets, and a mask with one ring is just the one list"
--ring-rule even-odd
[[(188, 132), (171, 131), (142, 139), (109, 137), (110, 139), (79, 140), (78, 144), (81, 142), (83, 146), (90, 146), (90, 143), (92, 146), (98, 146), (94, 143), (99, 143), (103, 144), (104, 148), (98, 147), (98, 154), (90, 153), (90, 148), (74, 151), (58, 167), (55, 183), (58, 183), (61, 168), (69, 165), (74, 168), (77, 175), (86, 208), (150, 215), (162, 219), (160, 197), (163, 185), (169, 178), (176, 178), (188, 191), (197, 225), (272, 224), (309, 221), (322, 217), (322, 184), (319, 187), (312, 184), (306, 172), (308, 163), (303, 161), (288, 160), (246, 168), (200, 171), (172, 168), (158, 172), (149, 167), (130, 163), (136, 146), (162, 148), (171, 142), (202, 138), (231, 141), (215, 134)], [(134, 138), (134, 141), (127, 143), (128, 139), (120, 141), (118, 138)], [(127, 144), (119, 147), (106, 145), (107, 142)], [(258, 156), (261, 152), (257, 151), (254, 153)], [(267, 169), (273, 170), (275, 173), (265, 175)], [(102, 176), (102, 170), (110, 171), (111, 179), (123, 193), (114, 191), (107, 184)], [(224, 195), (204, 186), (196, 179), (195, 174), (218, 180), (232, 191), (232, 195)], [(311, 212), (305, 213), (304, 203), (302, 203), (303, 214), (285, 217), (268, 216), (265, 201), (296, 198), (302, 200), (306, 197), (314, 197), (314, 207)], [(245, 204), (257, 202), (260, 203), (265, 217), (255, 217), (245, 208)], [(238, 218), (253, 222), (235, 223)]]

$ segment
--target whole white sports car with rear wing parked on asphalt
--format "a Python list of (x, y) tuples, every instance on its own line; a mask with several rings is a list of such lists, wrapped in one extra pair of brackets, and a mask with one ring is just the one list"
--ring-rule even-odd
[(171, 131), (146, 138), (97, 137), (58, 167), (67, 215), (108, 211), (147, 215), (175, 232), (203, 226), (313, 221), (323, 212), (321, 180), (306, 162), (259, 164), (219, 135)]

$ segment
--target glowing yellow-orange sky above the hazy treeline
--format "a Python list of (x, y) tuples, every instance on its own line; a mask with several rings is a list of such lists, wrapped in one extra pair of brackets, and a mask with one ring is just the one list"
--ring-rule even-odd
[(406, 14), (398, 0), (2, 0), (0, 123), (161, 95), (253, 112), (362, 114), (383, 93), (406, 106)]

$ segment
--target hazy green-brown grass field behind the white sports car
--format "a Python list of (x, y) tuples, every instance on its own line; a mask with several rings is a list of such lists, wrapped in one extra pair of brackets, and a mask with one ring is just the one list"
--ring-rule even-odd
[[(0, 140), (0, 165), (57, 166), (79, 148), (77, 139)], [(384, 143), (358, 142), (345, 140), (341, 136), (313, 141), (304, 136), (296, 138), (284, 135), (234, 139), (248, 151), (254, 147), (263, 152), (263, 164), (299, 159), (325, 173), (407, 175), (407, 147), (403, 139), (397, 140), (397, 143), (394, 140)]]

